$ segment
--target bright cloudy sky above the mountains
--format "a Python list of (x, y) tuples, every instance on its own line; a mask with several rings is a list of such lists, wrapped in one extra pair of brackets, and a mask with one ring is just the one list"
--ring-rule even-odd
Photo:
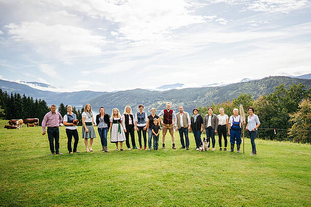
[(53, 91), (309, 74), (311, 2), (0, 0), (0, 72)]

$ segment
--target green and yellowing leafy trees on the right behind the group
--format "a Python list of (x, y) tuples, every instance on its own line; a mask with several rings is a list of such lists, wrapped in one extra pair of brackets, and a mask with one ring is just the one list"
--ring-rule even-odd
[(259, 139), (311, 143), (310, 98), (311, 89), (306, 89), (301, 83), (289, 85), (288, 88), (280, 84), (274, 88), (273, 93), (259, 96), (257, 100), (252, 95), (241, 94), (232, 101), (212, 103), (198, 109), (205, 116), (208, 107), (213, 107), (216, 114), (222, 107), (228, 116), (232, 116), (233, 109), (242, 104), (247, 119), (247, 108), (253, 106), (261, 123), (259, 128), (262, 128), (258, 130)]

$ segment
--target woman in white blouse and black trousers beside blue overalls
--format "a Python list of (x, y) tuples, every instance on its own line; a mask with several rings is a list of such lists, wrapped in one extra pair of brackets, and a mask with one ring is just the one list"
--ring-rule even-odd
[(225, 140), (225, 147), (224, 151), (227, 151), (227, 127), (228, 127), (228, 120), (229, 117), (227, 114), (225, 114), (225, 109), (224, 108), (219, 108), (220, 114), (217, 115), (217, 120), (218, 120), (218, 127), (217, 127), (217, 132), (218, 132), (218, 143), (219, 143), (219, 151), (223, 150), (221, 148), (221, 136), (224, 136)]

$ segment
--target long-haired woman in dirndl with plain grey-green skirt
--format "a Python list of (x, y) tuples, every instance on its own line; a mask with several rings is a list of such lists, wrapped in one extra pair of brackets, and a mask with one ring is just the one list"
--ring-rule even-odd
[[(92, 107), (86, 104), (82, 113), (82, 138), (86, 147), (86, 152), (92, 152), (93, 139), (96, 137), (94, 130), (94, 119)], [(90, 148), (87, 147), (87, 140), (90, 139)]]

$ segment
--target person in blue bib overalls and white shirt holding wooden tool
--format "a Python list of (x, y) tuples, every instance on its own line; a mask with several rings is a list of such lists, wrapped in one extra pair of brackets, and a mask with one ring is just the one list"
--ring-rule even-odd
[(239, 116), (239, 110), (237, 108), (233, 109), (233, 116), (229, 119), (229, 129), (228, 133), (230, 135), (230, 144), (231, 149), (229, 152), (233, 152), (234, 144), (236, 142), (236, 152), (240, 151), (241, 146), (241, 126), (245, 124), (245, 120), (242, 120), (241, 116)]

